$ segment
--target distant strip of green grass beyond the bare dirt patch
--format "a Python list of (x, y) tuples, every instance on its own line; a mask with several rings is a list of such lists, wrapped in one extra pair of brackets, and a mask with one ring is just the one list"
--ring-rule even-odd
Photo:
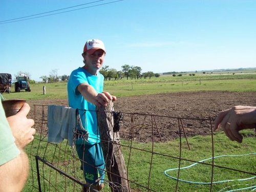
[[(46, 86), (46, 95), (43, 87)], [(201, 74), (197, 76), (183, 75), (173, 77), (162, 75), (158, 78), (136, 80), (107, 80), (104, 82), (104, 90), (117, 97), (148, 95), (187, 91), (231, 91), (248, 92), (256, 91), (256, 73), (232, 74)], [(14, 91), (13, 87), (11, 91)], [(57, 83), (33, 83), (31, 92), (21, 91), (3, 94), (5, 99), (67, 99), (67, 82)]]

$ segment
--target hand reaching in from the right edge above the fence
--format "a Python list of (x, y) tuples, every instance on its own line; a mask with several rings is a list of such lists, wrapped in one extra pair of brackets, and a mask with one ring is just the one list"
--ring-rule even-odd
[(237, 105), (224, 110), (217, 116), (214, 130), (220, 125), (230, 140), (241, 143), (243, 136), (239, 131), (256, 128), (256, 107)]

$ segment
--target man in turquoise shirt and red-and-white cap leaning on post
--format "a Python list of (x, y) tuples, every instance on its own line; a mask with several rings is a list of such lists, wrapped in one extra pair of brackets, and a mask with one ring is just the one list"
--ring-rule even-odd
[[(84, 66), (74, 70), (69, 77), (68, 100), (72, 108), (79, 110), (81, 119), (82, 127), (78, 126), (76, 150), (81, 160), (84, 179), (92, 188), (100, 190), (103, 188), (105, 163), (100, 145), (96, 106), (106, 106), (109, 101), (115, 101), (116, 97), (103, 91), (104, 77), (98, 72), (105, 57), (103, 42), (98, 39), (88, 40), (82, 57)], [(84, 137), (87, 134), (88, 137)]]

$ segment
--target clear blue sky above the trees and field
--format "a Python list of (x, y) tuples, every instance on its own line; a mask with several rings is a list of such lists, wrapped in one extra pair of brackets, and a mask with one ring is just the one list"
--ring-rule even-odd
[[(126, 64), (154, 73), (256, 67), (254, 0), (113, 1), (1, 0), (0, 73), (25, 71), (34, 80), (55, 69), (69, 75), (83, 66), (91, 38), (104, 42), (104, 65), (117, 70)], [(2, 22), (86, 3), (92, 4), (61, 11), (93, 7)]]

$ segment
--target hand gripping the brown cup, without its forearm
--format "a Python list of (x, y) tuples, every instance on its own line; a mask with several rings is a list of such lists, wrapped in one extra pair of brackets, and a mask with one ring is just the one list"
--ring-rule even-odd
[(16, 115), (7, 118), (16, 145), (20, 148), (24, 148), (29, 144), (35, 135), (35, 129), (32, 128), (34, 120), (27, 118), (29, 111), (30, 106), (28, 103), (25, 103)]

